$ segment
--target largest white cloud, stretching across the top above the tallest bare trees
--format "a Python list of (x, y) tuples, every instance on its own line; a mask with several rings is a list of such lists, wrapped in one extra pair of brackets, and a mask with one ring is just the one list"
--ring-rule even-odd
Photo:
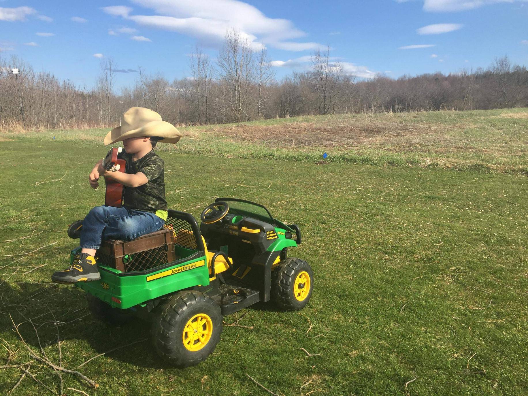
[(287, 51), (312, 50), (317, 43), (291, 42), (306, 35), (294, 24), (282, 18), (269, 18), (258, 8), (238, 0), (132, 0), (154, 10), (157, 15), (131, 15), (130, 7), (112, 6), (102, 10), (119, 15), (139, 25), (179, 32), (202, 42), (218, 46), (229, 29), (240, 32), (253, 49), (269, 45)]

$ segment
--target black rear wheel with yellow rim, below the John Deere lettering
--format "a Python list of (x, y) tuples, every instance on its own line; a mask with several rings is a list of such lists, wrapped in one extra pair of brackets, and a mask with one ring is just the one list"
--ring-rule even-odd
[[(212, 331), (204, 346), (199, 345), (199, 340), (192, 341), (189, 347), (200, 347), (192, 351), (185, 346), (183, 337), (184, 329), (196, 315), (208, 316), (211, 323), (204, 323), (202, 329), (212, 326)], [(151, 333), (154, 348), (164, 361), (177, 367), (194, 366), (204, 361), (220, 341), (222, 311), (213, 299), (199, 291), (180, 291), (158, 307)]]

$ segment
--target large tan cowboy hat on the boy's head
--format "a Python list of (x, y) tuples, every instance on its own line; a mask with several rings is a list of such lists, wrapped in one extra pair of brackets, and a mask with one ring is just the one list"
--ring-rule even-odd
[(121, 126), (105, 136), (105, 146), (138, 136), (157, 136), (161, 137), (158, 142), (176, 143), (182, 135), (174, 125), (162, 121), (157, 112), (144, 107), (131, 107), (123, 114)]

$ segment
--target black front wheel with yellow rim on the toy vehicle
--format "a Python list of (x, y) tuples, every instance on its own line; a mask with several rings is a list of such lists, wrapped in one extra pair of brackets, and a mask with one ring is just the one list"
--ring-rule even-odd
[[(299, 281), (297, 287), (300, 289), (308, 287), (309, 290), (308, 293), (306, 291), (299, 292), (298, 297), (296, 297), (294, 292), (295, 281), (301, 273), (304, 274), (301, 275), (300, 279), (305, 279), (305, 281)], [(298, 310), (308, 304), (314, 288), (314, 273), (312, 267), (306, 261), (297, 258), (287, 258), (279, 263), (271, 277), (271, 299), (275, 301), (279, 308)], [(299, 300), (299, 298), (303, 299)]]

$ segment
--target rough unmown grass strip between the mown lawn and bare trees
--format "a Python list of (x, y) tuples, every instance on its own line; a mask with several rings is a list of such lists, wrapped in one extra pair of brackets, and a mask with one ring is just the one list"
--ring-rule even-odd
[[(180, 128), (182, 154), (528, 173), (528, 109), (304, 116)], [(291, 129), (291, 130), (289, 130)], [(374, 135), (362, 132), (375, 130)], [(252, 139), (255, 131), (262, 139)], [(303, 135), (306, 131), (308, 134)], [(108, 129), (3, 134), (101, 145)], [(325, 141), (319, 139), (325, 135)], [(300, 142), (290, 138), (305, 136)], [(288, 138), (283, 139), (284, 136)], [(332, 139), (335, 136), (335, 140)], [(1, 138), (1, 137), (0, 137)], [(282, 140), (281, 140), (282, 139)], [(306, 144), (304, 144), (306, 143)]]

